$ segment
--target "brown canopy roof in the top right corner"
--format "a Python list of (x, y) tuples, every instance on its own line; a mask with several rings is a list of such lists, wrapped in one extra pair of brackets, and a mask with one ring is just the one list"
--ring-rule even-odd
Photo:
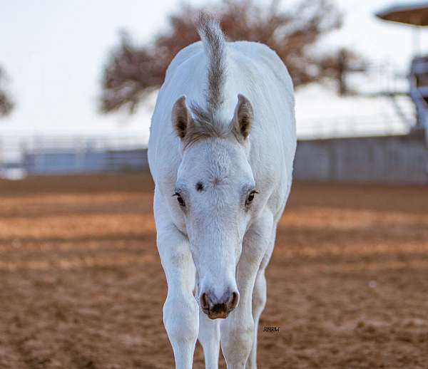
[(392, 21), (412, 26), (428, 26), (428, 1), (411, 4), (395, 4), (375, 14), (384, 21)]

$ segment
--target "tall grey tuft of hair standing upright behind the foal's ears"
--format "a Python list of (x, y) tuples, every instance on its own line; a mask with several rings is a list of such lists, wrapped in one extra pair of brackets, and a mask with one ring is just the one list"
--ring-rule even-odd
[(199, 106), (194, 106), (195, 115), (207, 120), (213, 118), (215, 111), (223, 103), (223, 87), (225, 84), (225, 49), (226, 41), (217, 19), (206, 13), (200, 13), (196, 20), (198, 34), (208, 58), (208, 85), (206, 90), (207, 107), (203, 112)]

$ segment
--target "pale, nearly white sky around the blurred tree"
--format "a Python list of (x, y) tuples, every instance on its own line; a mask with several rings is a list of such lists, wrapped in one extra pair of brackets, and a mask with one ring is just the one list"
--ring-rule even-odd
[[(335, 0), (343, 11), (344, 24), (322, 40), (320, 49), (345, 46), (370, 61), (392, 63), (406, 71), (412, 54), (411, 28), (379, 21), (373, 15), (393, 2)], [(0, 120), (0, 135), (17, 132), (147, 135), (151, 105), (132, 117), (126, 113), (97, 113), (101, 71), (108, 52), (118, 44), (118, 31), (125, 29), (136, 43), (150, 41), (153, 34), (165, 29), (167, 15), (182, 3), (179, 0), (0, 0), (0, 65), (10, 78), (9, 90), (16, 100), (14, 113)], [(190, 3), (207, 4), (207, 1)], [(282, 8), (286, 9), (287, 4), (290, 1), (282, 1)], [(422, 49), (427, 51), (427, 31), (422, 31), (421, 38)], [(297, 117), (298, 107), (299, 93)]]

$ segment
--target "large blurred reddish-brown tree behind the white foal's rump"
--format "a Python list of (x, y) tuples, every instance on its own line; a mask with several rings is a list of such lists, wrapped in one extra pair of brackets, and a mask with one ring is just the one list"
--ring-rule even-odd
[[(320, 36), (340, 26), (341, 15), (329, 0), (301, 0), (293, 11), (282, 12), (279, 1), (261, 6), (253, 0), (227, 0), (210, 9), (221, 20), (230, 41), (259, 41), (275, 50), (287, 65), (296, 87), (322, 78), (335, 78), (332, 56), (311, 53)], [(198, 41), (194, 19), (202, 9), (185, 6), (170, 16), (170, 31), (153, 43), (136, 46), (122, 33), (103, 70), (101, 110), (128, 108), (132, 113), (148, 93), (163, 83), (165, 71), (181, 48)]]

